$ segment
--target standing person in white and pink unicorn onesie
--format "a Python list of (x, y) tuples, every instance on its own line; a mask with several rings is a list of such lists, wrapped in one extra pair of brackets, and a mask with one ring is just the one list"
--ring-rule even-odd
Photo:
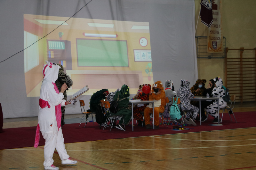
[(58, 78), (60, 66), (46, 61), (44, 64), (44, 79), (40, 91), (38, 124), (36, 129), (35, 146), (39, 144), (39, 129), (45, 139), (44, 145), (44, 169), (59, 168), (53, 165), (53, 153), (56, 148), (60, 155), (61, 164), (76, 164), (77, 161), (69, 159), (65, 149), (64, 138), (61, 130), (61, 106), (70, 104), (63, 100), (63, 92), (68, 88), (63, 84), (59, 92), (55, 81)]

